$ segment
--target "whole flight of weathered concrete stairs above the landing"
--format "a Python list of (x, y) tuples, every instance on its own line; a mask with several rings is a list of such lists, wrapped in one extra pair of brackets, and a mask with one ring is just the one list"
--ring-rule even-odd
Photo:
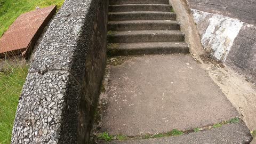
[(189, 53), (167, 0), (109, 1), (111, 55)]

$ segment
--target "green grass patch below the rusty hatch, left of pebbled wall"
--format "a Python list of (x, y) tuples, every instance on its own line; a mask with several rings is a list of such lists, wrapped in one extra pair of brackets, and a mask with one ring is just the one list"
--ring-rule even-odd
[[(6, 63), (5, 63), (6, 65)], [(10, 143), (13, 121), (28, 66), (7, 64), (0, 72), (0, 143)]]

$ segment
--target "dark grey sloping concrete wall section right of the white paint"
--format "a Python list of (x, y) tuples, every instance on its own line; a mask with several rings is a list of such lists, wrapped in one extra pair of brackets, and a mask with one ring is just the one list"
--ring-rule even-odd
[(256, 83), (256, 26), (244, 23), (231, 47), (226, 64), (246, 74), (247, 79)]

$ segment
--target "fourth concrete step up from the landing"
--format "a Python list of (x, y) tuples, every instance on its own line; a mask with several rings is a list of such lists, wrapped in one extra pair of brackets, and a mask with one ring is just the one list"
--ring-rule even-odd
[(121, 20), (176, 20), (173, 12), (110, 12), (109, 21)]

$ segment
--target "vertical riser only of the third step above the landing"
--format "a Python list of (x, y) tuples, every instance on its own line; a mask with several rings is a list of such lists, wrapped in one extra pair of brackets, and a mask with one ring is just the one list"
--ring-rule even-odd
[(178, 23), (109, 23), (108, 30), (126, 31), (126, 30), (179, 30)]

